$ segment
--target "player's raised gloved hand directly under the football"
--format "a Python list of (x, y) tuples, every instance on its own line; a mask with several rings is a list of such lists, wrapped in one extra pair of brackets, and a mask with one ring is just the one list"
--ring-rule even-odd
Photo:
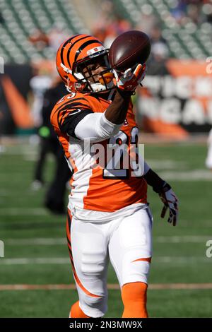
[(143, 78), (145, 77), (146, 73), (146, 64), (138, 64), (136, 66), (136, 69), (132, 71), (131, 68), (126, 69), (124, 73), (118, 72), (115, 69), (113, 69), (114, 72), (114, 78), (117, 83), (117, 88), (120, 90), (125, 90), (129, 92), (134, 92), (136, 90), (137, 85), (141, 83)]

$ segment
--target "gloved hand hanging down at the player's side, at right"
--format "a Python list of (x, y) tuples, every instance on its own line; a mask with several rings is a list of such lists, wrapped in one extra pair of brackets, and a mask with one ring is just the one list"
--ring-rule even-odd
[(165, 183), (163, 186), (162, 191), (158, 193), (160, 196), (161, 201), (163, 201), (163, 209), (161, 212), (161, 218), (165, 217), (165, 213), (167, 209), (169, 209), (170, 215), (168, 218), (168, 223), (172, 223), (173, 226), (177, 225), (178, 219), (178, 199), (175, 195), (174, 191), (172, 191), (169, 184)]

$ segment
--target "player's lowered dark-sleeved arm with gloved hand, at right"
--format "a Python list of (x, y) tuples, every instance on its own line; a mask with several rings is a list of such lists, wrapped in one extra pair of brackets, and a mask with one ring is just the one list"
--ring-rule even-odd
[(178, 199), (174, 191), (172, 191), (170, 184), (167, 184), (165, 180), (161, 179), (158, 174), (151, 170), (146, 162), (143, 177), (146, 179), (147, 184), (153, 187), (153, 191), (159, 195), (164, 204), (160, 215), (161, 218), (165, 217), (165, 213), (168, 209), (170, 215), (167, 221), (168, 223), (172, 223), (173, 226), (176, 226), (178, 219)]

